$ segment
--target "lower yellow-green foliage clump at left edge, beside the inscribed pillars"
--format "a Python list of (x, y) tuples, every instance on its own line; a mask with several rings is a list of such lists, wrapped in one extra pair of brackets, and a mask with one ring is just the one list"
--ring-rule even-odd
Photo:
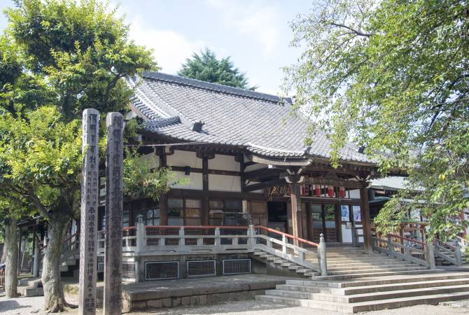
[(55, 106), (43, 106), (25, 118), (0, 116), (0, 134), (2, 190), (34, 204), (45, 218), (48, 211), (73, 216), (80, 194), (80, 121), (65, 123)]

